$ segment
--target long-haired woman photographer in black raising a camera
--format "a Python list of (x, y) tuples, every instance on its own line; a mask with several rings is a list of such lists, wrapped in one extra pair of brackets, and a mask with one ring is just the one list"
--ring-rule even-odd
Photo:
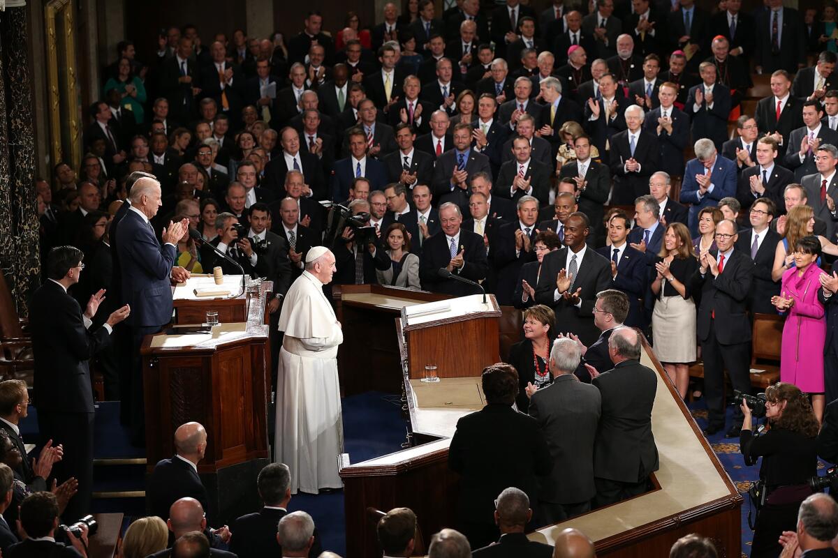
[(812, 494), (809, 479), (817, 474), (815, 437), (819, 426), (809, 398), (794, 384), (783, 381), (769, 386), (765, 397), (768, 424), (757, 436), (751, 432), (752, 409), (745, 399), (740, 406), (744, 420), (739, 447), (745, 463), (756, 463), (762, 456), (759, 481), (766, 494), (753, 528), (751, 558), (774, 558), (783, 550), (779, 536), (794, 530), (800, 503)]

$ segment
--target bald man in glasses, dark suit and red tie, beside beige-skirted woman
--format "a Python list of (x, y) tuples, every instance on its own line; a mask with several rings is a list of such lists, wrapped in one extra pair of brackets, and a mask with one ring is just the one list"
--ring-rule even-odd
[[(704, 358), (704, 388), (707, 401), (706, 436), (725, 426), (725, 371), (733, 388), (751, 392), (751, 325), (745, 312), (753, 284), (753, 259), (735, 249), (737, 226), (730, 220), (716, 225), (717, 250), (703, 250), (699, 269), (692, 276), (692, 292), (701, 291), (696, 333)], [(726, 438), (737, 438), (742, 412), (734, 407), (733, 426)]]

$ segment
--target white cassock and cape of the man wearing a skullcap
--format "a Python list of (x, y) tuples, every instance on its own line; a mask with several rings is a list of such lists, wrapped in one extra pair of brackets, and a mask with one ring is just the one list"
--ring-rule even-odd
[(288, 289), (279, 330), (285, 337), (277, 374), (277, 462), (291, 469), (292, 494), (343, 488), (338, 346), (344, 333), (323, 284), (308, 271)]

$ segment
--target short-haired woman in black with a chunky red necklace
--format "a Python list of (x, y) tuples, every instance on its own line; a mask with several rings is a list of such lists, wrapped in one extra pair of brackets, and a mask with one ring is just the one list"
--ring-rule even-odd
[(549, 306), (535, 305), (524, 310), (524, 340), (512, 346), (507, 360), (518, 371), (515, 403), (520, 412), (527, 412), (530, 407), (527, 392), (535, 393), (553, 383), (549, 362), (555, 325), (556, 314)]

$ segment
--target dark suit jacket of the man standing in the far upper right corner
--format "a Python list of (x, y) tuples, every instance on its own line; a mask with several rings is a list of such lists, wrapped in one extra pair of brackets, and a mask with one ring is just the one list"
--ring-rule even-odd
[(771, 28), (773, 13), (770, 10), (758, 10), (756, 15), (757, 46), (754, 50), (753, 63), (762, 66), (763, 74), (770, 75), (774, 70), (784, 69), (794, 74), (798, 64), (806, 62), (806, 44), (803, 31), (803, 19), (793, 8), (783, 10), (783, 31), (780, 34), (779, 52), (772, 52)]

